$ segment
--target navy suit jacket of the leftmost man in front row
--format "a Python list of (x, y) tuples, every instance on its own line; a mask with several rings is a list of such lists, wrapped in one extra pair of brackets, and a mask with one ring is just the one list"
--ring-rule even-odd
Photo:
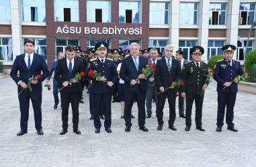
[[(31, 84), (33, 92), (42, 91), (42, 81), (44, 81), (44, 79), (46, 79), (46, 77), (49, 75), (48, 66), (46, 64), (46, 61), (44, 60), (44, 57), (42, 55), (34, 53), (30, 69), (28, 69), (24, 58), (25, 53), (22, 55), (17, 55), (15, 61), (13, 62), (13, 67), (11, 68), (11, 78), (15, 81), (15, 83), (18, 83), (19, 81), (24, 81), (26, 84), (28, 84), (28, 79), (30, 79), (32, 75), (41, 75), (42, 71), (42, 77), (38, 79), (38, 84)], [(17, 76), (17, 71), (19, 71), (19, 76)], [(19, 85), (17, 86), (18, 92), (21, 92), (23, 88)]]

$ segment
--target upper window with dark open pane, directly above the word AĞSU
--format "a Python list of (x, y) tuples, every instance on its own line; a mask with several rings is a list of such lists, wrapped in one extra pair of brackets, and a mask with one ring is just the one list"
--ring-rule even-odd
[(79, 22), (79, 0), (55, 0), (55, 21)]

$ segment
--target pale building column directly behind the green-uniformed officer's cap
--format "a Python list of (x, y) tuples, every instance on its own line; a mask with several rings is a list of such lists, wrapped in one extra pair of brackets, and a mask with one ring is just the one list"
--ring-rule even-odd
[(200, 1), (198, 5), (198, 45), (204, 48), (202, 59), (207, 61), (210, 0)]

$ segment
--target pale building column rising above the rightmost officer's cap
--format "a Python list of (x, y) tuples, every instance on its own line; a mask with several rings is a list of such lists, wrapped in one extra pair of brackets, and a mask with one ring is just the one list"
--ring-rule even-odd
[[(239, 6), (240, 1), (228, 1), (227, 18), (226, 18), (226, 45), (237, 46), (237, 36), (239, 34)], [(237, 55), (237, 51), (234, 51)], [(237, 56), (233, 57), (234, 59)]]

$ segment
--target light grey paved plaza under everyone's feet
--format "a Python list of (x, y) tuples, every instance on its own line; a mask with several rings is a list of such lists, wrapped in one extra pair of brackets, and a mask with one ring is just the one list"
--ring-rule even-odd
[[(45, 82), (44, 82), (45, 83)], [(43, 84), (44, 84), (43, 83)], [(52, 79), (51, 79), (52, 85)], [(43, 136), (36, 134), (34, 114), (30, 104), (28, 134), (19, 132), (19, 101), (17, 86), (11, 77), (0, 79), (0, 166), (256, 166), (256, 95), (237, 94), (234, 106), (234, 124), (239, 132), (216, 132), (216, 82), (210, 83), (204, 96), (203, 127), (196, 130), (194, 108), (192, 126), (185, 132), (185, 119), (177, 118), (177, 131), (168, 128), (169, 108), (164, 110), (163, 130), (157, 130), (157, 118), (146, 119), (149, 132), (138, 129), (138, 111), (131, 132), (124, 132), (120, 118), (120, 103), (112, 104), (112, 134), (95, 134), (93, 120), (89, 120), (89, 96), (84, 92), (85, 104), (79, 104), (79, 130), (73, 133), (72, 112), (69, 113), (68, 133), (62, 130), (60, 106), (53, 109), (52, 90), (43, 88)], [(155, 111), (155, 104), (153, 104)], [(176, 103), (176, 113), (177, 103)], [(101, 123), (103, 121), (101, 120)]]

